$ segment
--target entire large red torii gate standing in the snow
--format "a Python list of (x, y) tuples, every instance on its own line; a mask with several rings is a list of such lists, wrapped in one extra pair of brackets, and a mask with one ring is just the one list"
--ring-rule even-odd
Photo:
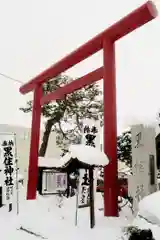
[[(146, 2), (40, 75), (21, 86), (20, 92), (22, 94), (34, 91), (27, 199), (36, 198), (41, 106), (56, 99), (63, 99), (66, 94), (103, 78), (104, 152), (110, 159), (110, 164), (104, 171), (104, 215), (118, 215), (115, 41), (156, 18), (157, 15), (155, 5), (151, 1)], [(103, 49), (103, 67), (43, 96), (43, 83), (101, 49)]]

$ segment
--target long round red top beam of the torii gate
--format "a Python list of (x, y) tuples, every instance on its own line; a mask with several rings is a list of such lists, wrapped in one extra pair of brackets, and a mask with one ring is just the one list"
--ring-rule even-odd
[(88, 41), (86, 44), (79, 47), (74, 52), (70, 53), (62, 60), (52, 65), (50, 68), (42, 72), (37, 77), (33, 78), (28, 83), (24, 84), (20, 88), (22, 94), (32, 91), (37, 84), (44, 83), (58, 74), (66, 71), (77, 63), (88, 58), (92, 54), (98, 52), (103, 48), (104, 38), (108, 38), (110, 41), (115, 42), (116, 40), (124, 37), (128, 33), (141, 27), (145, 23), (154, 19), (157, 15), (156, 8), (151, 1), (143, 4), (120, 21), (113, 24), (111, 27)]

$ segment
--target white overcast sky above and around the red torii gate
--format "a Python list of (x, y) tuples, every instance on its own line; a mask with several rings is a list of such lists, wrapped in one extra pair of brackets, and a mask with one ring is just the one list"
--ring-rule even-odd
[[(26, 82), (143, 0), (0, 0), (0, 73)], [(157, 0), (158, 8), (159, 2)], [(117, 42), (118, 128), (155, 120), (160, 109), (160, 18)], [(67, 73), (102, 65), (101, 52)], [(28, 96), (0, 76), (0, 123), (29, 126), (18, 108)]]

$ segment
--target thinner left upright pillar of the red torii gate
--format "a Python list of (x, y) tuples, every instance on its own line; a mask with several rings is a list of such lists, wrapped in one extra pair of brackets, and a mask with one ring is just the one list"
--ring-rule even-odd
[(42, 86), (38, 86), (34, 91), (34, 101), (32, 110), (32, 129), (31, 129), (31, 145), (29, 158), (27, 199), (36, 198), (37, 179), (38, 179), (38, 150), (40, 137), (41, 122), (41, 105)]

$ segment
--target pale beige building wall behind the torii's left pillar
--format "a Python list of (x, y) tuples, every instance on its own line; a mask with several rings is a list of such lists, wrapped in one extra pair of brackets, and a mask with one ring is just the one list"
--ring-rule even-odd
[[(24, 183), (27, 182), (28, 164), (29, 164), (29, 150), (30, 150), (30, 135), (31, 130), (20, 126), (11, 126), (0, 124), (0, 133), (15, 133), (17, 145), (17, 158), (20, 173), (24, 176)], [(40, 143), (42, 141), (43, 132), (41, 131)], [(56, 135), (51, 133), (46, 152), (46, 157), (60, 157), (60, 149), (56, 146)]]

